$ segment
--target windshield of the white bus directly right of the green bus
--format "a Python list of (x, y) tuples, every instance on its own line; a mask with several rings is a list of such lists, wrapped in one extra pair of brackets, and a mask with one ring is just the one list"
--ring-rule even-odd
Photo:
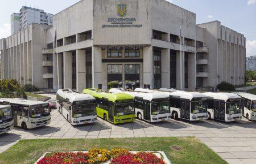
[(152, 103), (152, 108), (151, 108), (152, 115), (164, 114), (164, 113), (170, 113), (169, 101)]

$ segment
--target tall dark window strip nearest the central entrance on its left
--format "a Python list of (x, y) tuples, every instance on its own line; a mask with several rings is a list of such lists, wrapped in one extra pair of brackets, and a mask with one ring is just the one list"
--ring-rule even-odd
[(86, 53), (85, 58), (86, 58), (86, 88), (92, 88), (92, 52)]

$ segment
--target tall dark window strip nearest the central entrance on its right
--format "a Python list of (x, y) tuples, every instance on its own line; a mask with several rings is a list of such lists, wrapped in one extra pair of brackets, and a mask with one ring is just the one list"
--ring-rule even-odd
[(162, 87), (161, 51), (154, 50), (154, 88)]

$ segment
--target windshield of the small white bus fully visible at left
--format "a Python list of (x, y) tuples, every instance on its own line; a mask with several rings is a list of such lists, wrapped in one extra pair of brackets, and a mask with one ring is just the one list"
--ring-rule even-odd
[(33, 105), (30, 106), (30, 118), (42, 118), (48, 116), (50, 113), (48, 111), (48, 105)]

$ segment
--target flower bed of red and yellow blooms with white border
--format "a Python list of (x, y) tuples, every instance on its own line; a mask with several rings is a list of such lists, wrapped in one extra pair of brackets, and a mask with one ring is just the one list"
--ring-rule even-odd
[(47, 163), (112, 163), (112, 164), (147, 164), (170, 163), (163, 152), (129, 152), (126, 149), (90, 149), (88, 152), (46, 153), (37, 164)]

